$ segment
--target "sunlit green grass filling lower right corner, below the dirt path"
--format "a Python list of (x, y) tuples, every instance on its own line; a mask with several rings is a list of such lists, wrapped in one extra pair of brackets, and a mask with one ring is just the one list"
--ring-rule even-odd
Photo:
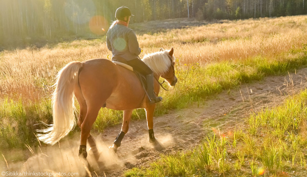
[[(293, 173), (296, 176), (305, 176), (306, 105), (307, 90), (303, 90), (300, 94), (288, 98), (281, 106), (266, 108), (259, 114), (251, 114), (252, 119), (247, 118), (246, 125), (266, 121), (266, 124), (257, 126), (256, 133), (244, 130), (242, 127), (235, 130), (233, 137), (226, 138), (222, 133), (208, 135), (199, 148), (186, 153), (178, 152), (175, 155), (162, 156), (160, 160), (153, 162), (149, 169), (141, 171), (149, 177), (218, 174), (280, 176)], [(283, 131), (284, 129), (286, 130)], [(239, 133), (241, 130), (246, 133)], [(184, 160), (184, 166), (178, 164), (180, 160)], [(172, 170), (182, 167), (185, 171), (177, 170), (174, 173)]]

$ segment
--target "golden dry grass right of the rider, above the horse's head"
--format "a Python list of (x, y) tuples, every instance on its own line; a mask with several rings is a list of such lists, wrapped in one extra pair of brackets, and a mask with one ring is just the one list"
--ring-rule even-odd
[(177, 56), (181, 56), (183, 63), (208, 63), (245, 60), (259, 54), (271, 57), (300, 48), (307, 39), (307, 16), (220, 22), (157, 35), (144, 34), (139, 37), (140, 45), (173, 46), (180, 51)]

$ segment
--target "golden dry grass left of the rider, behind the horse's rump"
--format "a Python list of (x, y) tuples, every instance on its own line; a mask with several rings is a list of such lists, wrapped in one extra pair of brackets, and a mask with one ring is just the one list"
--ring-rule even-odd
[[(95, 51), (95, 52), (94, 52)], [(100, 55), (103, 53), (103, 55)], [(0, 88), (3, 96), (38, 101), (49, 97), (59, 69), (70, 61), (106, 56), (103, 46), (85, 48), (27, 48), (5, 51), (0, 60)]]

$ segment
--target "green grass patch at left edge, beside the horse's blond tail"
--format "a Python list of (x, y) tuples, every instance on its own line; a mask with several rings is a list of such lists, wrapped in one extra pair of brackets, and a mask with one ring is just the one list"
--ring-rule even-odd
[(0, 119), (1, 149), (25, 148), (24, 144), (37, 143), (34, 132), (40, 121), (52, 120), (50, 100), (24, 104), (21, 99), (14, 102), (6, 98), (0, 106)]

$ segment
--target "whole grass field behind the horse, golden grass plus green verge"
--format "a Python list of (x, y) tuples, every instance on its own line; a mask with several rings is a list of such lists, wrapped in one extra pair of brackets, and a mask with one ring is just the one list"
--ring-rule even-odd
[[(161, 22), (163, 25), (170, 21)], [(177, 22), (180, 24), (180, 22)], [(134, 24), (136, 32), (144, 24)], [(180, 25), (173, 25), (174, 28)], [(161, 47), (174, 47), (178, 83), (161, 90), (163, 102), (156, 115), (208, 97), (241, 83), (261, 80), (307, 64), (307, 16), (217, 21), (163, 32), (140, 32), (141, 57)], [(60, 41), (43, 48), (5, 50), (0, 53), (0, 149), (35, 145), (40, 121), (51, 123), (52, 85), (57, 72), (70, 61), (110, 59), (105, 37)], [(77, 105), (77, 103), (76, 103)], [(134, 111), (134, 119), (145, 117)], [(94, 131), (121, 122), (122, 111), (101, 109)], [(77, 129), (77, 128), (76, 128)], [(23, 143), (20, 143), (23, 142)]]

